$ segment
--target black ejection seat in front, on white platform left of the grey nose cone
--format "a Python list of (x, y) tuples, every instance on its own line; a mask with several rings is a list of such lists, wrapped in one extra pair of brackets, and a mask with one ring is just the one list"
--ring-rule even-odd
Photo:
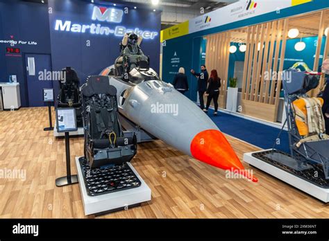
[(85, 158), (90, 168), (119, 165), (137, 152), (135, 134), (124, 132), (119, 123), (117, 89), (108, 76), (94, 75), (81, 87)]

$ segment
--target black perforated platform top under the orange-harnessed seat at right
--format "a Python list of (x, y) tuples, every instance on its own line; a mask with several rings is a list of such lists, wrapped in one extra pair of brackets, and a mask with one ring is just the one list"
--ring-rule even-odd
[(329, 188), (329, 180), (325, 178), (324, 173), (323, 173), (323, 168), (321, 165), (309, 163), (310, 166), (313, 167), (312, 169), (297, 171), (297, 170), (294, 170), (293, 168), (289, 168), (289, 166), (285, 166), (282, 163), (269, 159), (267, 157), (268, 154), (273, 154), (275, 152), (286, 155), (288, 157), (291, 157), (289, 154), (287, 154), (285, 152), (281, 152), (280, 150), (268, 150), (268, 151), (264, 151), (264, 152), (256, 152), (256, 153), (253, 153), (252, 155), (253, 155), (253, 157), (256, 157), (257, 159), (265, 161), (266, 163), (269, 163), (272, 166), (275, 166), (277, 168), (285, 170), (286, 172), (291, 173), (292, 175), (305, 179), (306, 181), (309, 181), (310, 183), (312, 183), (316, 186), (319, 186), (321, 188)]

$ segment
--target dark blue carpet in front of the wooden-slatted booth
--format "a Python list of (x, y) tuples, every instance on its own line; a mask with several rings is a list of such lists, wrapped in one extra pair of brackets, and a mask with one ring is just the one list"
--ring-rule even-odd
[[(246, 120), (238, 116), (233, 116), (223, 112), (218, 112), (218, 116), (213, 115), (214, 110), (209, 109), (208, 116), (219, 127), (221, 132), (234, 136), (237, 139), (246, 141), (262, 149), (273, 147), (274, 141), (278, 137), (280, 129)], [(289, 138), (287, 131), (283, 130), (279, 144), (276, 149), (289, 153)]]

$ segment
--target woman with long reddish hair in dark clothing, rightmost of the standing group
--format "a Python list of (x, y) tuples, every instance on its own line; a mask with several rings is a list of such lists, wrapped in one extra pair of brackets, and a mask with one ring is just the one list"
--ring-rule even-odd
[(208, 96), (207, 107), (205, 111), (208, 111), (211, 100), (214, 100), (214, 115), (217, 116), (218, 109), (218, 98), (219, 98), (219, 88), (221, 87), (221, 78), (218, 77), (217, 71), (213, 69), (210, 73), (209, 84), (205, 96)]

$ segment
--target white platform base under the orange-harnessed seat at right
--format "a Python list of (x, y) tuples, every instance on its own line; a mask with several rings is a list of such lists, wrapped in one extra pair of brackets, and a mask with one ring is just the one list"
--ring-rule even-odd
[(320, 188), (314, 184), (311, 184), (300, 177), (290, 174), (289, 172), (285, 172), (280, 168), (276, 168), (265, 161), (257, 159), (253, 157), (251, 154), (256, 152), (248, 152), (244, 154), (244, 162), (258, 168), (264, 172), (269, 173), (273, 177), (280, 179), (281, 181), (285, 181), (285, 183), (302, 190), (303, 192), (316, 197), (317, 199), (321, 200), (322, 202), (328, 203), (329, 202), (329, 189), (328, 188)]

